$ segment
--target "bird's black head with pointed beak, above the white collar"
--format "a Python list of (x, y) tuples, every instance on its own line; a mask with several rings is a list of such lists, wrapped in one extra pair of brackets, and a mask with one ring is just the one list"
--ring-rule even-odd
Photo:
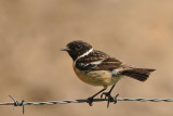
[(81, 41), (71, 41), (65, 48), (61, 49), (62, 51), (67, 51), (68, 54), (76, 61), (79, 56), (92, 50), (92, 46)]

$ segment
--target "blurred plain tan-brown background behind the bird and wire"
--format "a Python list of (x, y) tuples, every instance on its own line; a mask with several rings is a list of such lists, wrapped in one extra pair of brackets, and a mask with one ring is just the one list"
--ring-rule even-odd
[[(59, 49), (83, 40), (124, 63), (156, 68), (146, 82), (121, 79), (112, 95), (172, 98), (172, 0), (0, 0), (0, 102), (86, 99), (102, 89), (80, 81)], [(172, 103), (27, 105), (25, 116), (172, 116)], [(4, 116), (22, 107), (0, 106)]]

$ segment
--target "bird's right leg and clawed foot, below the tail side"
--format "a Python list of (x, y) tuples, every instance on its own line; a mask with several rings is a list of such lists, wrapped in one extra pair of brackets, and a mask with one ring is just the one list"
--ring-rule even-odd
[(105, 99), (107, 99), (107, 107), (109, 107), (109, 103), (112, 102), (112, 101), (115, 101), (115, 103), (117, 103), (117, 96), (118, 96), (119, 94), (117, 94), (115, 98), (112, 98), (111, 94), (110, 94), (111, 91), (112, 91), (112, 89), (115, 88), (115, 86), (116, 86), (116, 85), (114, 85), (108, 92), (103, 92), (103, 93), (101, 94), (101, 98), (103, 98), (103, 95), (105, 95)]

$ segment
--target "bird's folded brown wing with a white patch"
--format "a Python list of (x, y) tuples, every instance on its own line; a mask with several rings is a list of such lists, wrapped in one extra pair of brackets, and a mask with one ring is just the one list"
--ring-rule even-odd
[(76, 61), (76, 67), (80, 70), (111, 70), (121, 64), (119, 60), (96, 50)]

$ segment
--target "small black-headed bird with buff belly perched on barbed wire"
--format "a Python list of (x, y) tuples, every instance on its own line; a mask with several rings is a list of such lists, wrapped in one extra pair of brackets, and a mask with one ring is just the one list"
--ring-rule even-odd
[[(91, 86), (104, 87), (101, 91), (88, 98), (90, 106), (93, 105), (94, 98), (99, 93), (102, 93), (101, 98), (105, 95), (105, 99), (107, 99), (107, 107), (109, 107), (109, 103), (112, 101), (117, 103), (115, 99), (119, 94), (112, 98), (111, 91), (122, 77), (145, 81), (150, 73), (156, 70), (152, 68), (129, 66), (105, 52), (95, 50), (90, 43), (82, 40), (70, 41), (61, 50), (68, 52), (72, 59), (74, 70), (80, 80)], [(104, 92), (109, 86), (111, 86), (110, 90)]]

